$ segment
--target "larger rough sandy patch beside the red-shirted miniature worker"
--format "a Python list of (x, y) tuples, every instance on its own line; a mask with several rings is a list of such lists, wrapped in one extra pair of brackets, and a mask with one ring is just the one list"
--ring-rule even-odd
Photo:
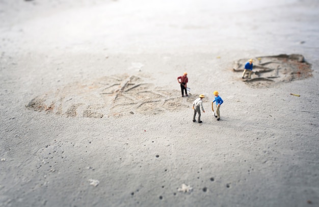
[(180, 111), (192, 104), (191, 96), (185, 101), (179, 98), (177, 90), (156, 88), (150, 82), (124, 74), (70, 83), (57, 91), (37, 96), (26, 107), (67, 117), (101, 118), (104, 115), (119, 117)]

